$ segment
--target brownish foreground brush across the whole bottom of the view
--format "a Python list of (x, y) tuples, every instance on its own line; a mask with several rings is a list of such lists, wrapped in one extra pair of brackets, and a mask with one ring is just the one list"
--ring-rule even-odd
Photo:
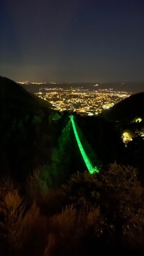
[(40, 176), (37, 169), (29, 177), (24, 197), (12, 180), (1, 183), (0, 250), (5, 237), (17, 256), (144, 251), (143, 188), (136, 169), (115, 162), (93, 175), (77, 172), (61, 189), (47, 192), (39, 189)]

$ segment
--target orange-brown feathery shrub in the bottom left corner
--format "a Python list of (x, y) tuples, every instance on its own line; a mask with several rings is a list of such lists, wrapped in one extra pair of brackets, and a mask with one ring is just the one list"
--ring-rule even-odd
[(8, 237), (10, 248), (19, 255), (20, 251), (26, 247), (28, 240), (33, 241), (34, 229), (38, 219), (40, 220), (39, 208), (34, 201), (31, 208), (26, 211), (26, 203), (18, 191), (14, 190), (8, 192), (1, 201), (0, 213), (3, 216), (1, 228)]

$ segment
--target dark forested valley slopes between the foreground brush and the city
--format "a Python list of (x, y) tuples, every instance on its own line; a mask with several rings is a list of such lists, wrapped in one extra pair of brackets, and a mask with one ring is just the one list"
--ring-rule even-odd
[[(33, 170), (41, 169), (42, 180), (51, 187), (62, 184), (70, 173), (86, 169), (69, 122), (69, 112), (54, 111), (49, 102), (39, 101), (4, 77), (0, 77), (0, 95), (0, 176), (10, 173), (23, 181)], [(144, 118), (143, 99), (144, 93), (132, 95), (99, 116), (75, 114), (78, 135), (94, 166), (116, 161), (143, 169), (143, 137), (141, 144), (133, 139), (127, 148), (121, 138), (125, 129), (130, 129), (135, 136), (138, 131), (144, 131), (143, 120), (132, 123), (131, 127), (124, 121), (131, 122), (136, 116)], [(122, 120), (125, 124), (111, 120)]]

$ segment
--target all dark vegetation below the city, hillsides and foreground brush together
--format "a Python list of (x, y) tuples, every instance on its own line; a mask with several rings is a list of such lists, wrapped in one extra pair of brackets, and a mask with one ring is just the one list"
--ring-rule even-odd
[[(3, 77), (0, 94), (1, 255), (143, 255), (144, 123), (133, 122), (144, 118), (143, 94), (96, 118), (75, 115), (100, 169), (93, 175), (84, 171), (69, 112), (53, 111)], [(141, 103), (134, 112), (135, 97)], [(127, 147), (124, 130), (134, 134)]]

